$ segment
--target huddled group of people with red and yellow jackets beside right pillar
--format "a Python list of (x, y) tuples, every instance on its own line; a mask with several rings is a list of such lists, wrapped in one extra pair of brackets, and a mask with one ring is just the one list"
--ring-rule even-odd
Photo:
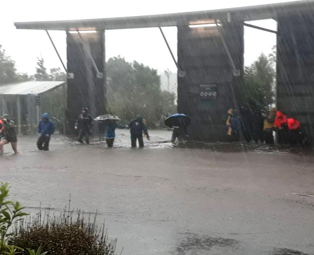
[(274, 131), (279, 144), (303, 144), (306, 137), (301, 129), (301, 124), (294, 118), (288, 118), (276, 108), (267, 113), (252, 111), (248, 107), (241, 107), (240, 112), (229, 109), (226, 125), (230, 141), (238, 141), (240, 132), (247, 142), (252, 139), (255, 142), (267, 144), (275, 143)]

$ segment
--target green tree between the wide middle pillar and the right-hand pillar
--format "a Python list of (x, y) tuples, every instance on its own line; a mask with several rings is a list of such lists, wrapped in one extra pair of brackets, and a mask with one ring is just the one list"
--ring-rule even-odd
[(244, 70), (244, 98), (251, 108), (268, 109), (274, 103), (273, 59), (261, 54)]

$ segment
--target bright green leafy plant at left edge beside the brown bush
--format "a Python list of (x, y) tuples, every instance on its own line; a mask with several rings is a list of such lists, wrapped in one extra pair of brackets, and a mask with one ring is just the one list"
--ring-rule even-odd
[(18, 202), (12, 202), (8, 200), (9, 187), (8, 183), (0, 182), (0, 255), (17, 255), (17, 254), (28, 254), (28, 255), (45, 255), (41, 253), (40, 245), (36, 252), (35, 250), (30, 250), (8, 244), (8, 240), (11, 237), (9, 232), (11, 227), (22, 219), (23, 216), (28, 215), (22, 210), (24, 207)]

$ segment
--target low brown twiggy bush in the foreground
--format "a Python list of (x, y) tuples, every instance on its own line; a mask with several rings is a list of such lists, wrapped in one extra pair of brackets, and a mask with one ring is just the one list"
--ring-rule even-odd
[[(41, 247), (49, 255), (114, 255), (116, 240), (108, 243), (104, 225), (98, 229), (95, 215), (93, 221), (85, 223), (83, 213), (64, 211), (59, 217), (51, 217), (49, 211), (41, 221), (41, 213), (37, 220), (21, 222), (16, 226), (9, 243), (21, 248)], [(24, 253), (27, 254), (27, 253)]]

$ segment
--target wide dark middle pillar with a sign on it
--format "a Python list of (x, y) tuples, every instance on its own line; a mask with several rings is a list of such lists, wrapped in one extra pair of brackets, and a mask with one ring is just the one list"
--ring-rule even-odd
[(191, 118), (191, 139), (227, 138), (227, 111), (242, 102), (243, 35), (243, 22), (178, 25), (178, 112)]

